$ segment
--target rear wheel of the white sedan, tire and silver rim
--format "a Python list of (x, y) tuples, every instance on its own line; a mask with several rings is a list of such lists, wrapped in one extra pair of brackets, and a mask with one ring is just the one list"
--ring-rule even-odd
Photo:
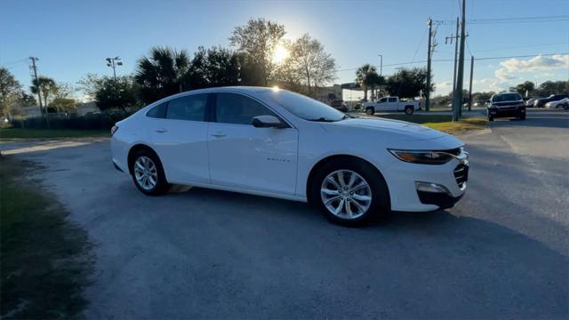
[(131, 172), (134, 185), (145, 195), (163, 195), (170, 188), (160, 159), (153, 152), (138, 151), (133, 156)]

